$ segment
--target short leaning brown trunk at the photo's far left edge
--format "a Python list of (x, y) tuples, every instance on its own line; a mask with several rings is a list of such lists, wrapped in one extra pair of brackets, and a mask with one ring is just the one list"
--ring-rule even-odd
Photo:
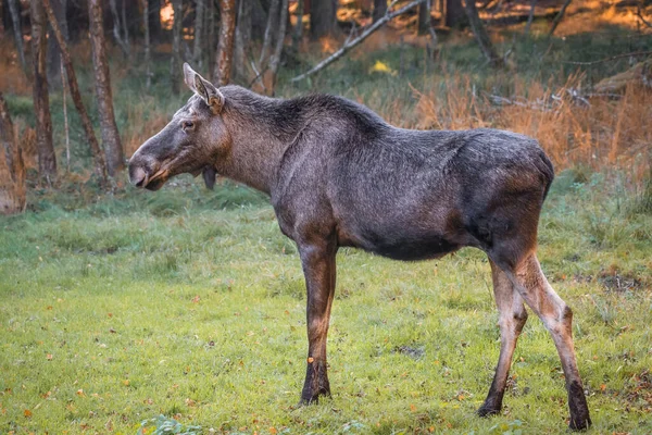
[(9, 108), (0, 91), (0, 214), (22, 213), (26, 195), (23, 156)]

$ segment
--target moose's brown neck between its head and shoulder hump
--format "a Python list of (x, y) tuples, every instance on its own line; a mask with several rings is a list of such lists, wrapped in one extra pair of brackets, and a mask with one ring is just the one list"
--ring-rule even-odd
[(288, 100), (262, 97), (237, 86), (221, 90), (227, 101), (222, 119), (231, 146), (217, 157), (215, 170), (271, 195), (280, 160), (299, 132), (301, 116), (289, 113), (294, 111), (288, 110)]

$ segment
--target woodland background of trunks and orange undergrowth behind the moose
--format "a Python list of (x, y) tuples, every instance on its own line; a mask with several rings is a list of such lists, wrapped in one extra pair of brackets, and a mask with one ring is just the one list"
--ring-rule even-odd
[(0, 12), (4, 214), (30, 191), (124, 189), (126, 159), (185, 98), (184, 62), (220, 86), (338, 92), (410, 128), (511, 129), (557, 167), (625, 169), (638, 189), (649, 178), (649, 0), (1, 0)]

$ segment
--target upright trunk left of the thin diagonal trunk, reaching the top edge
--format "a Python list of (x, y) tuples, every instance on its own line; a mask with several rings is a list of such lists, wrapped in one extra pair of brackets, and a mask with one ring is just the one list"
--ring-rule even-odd
[(34, 112), (36, 114), (36, 147), (41, 182), (51, 185), (57, 177), (57, 154), (52, 146), (52, 119), (46, 72), (47, 17), (41, 0), (32, 0), (32, 60), (34, 64)]

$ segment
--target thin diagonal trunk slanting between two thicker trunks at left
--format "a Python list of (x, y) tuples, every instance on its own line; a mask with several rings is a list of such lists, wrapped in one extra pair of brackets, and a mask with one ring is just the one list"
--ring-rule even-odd
[(67, 44), (65, 42), (65, 39), (63, 39), (63, 35), (61, 34), (61, 29), (59, 28), (59, 24), (54, 17), (54, 12), (52, 11), (50, 0), (42, 0), (42, 5), (46, 9), (48, 20), (50, 21), (50, 25), (52, 26), (52, 30), (54, 32), (54, 36), (59, 42), (59, 48), (61, 49), (61, 57), (63, 59), (63, 63), (65, 64), (65, 74), (68, 80), (68, 89), (71, 90), (71, 97), (73, 98), (75, 108), (77, 109), (79, 117), (82, 119), (82, 125), (84, 126), (84, 133), (86, 133), (86, 139), (90, 145), (96, 174), (100, 177), (100, 184), (102, 188), (106, 188), (109, 179), (106, 177), (106, 163), (104, 160), (104, 154), (100, 149), (95, 130), (92, 129), (90, 117), (88, 116), (88, 112), (86, 111), (84, 102), (82, 101), (82, 94), (79, 92), (79, 86), (77, 85), (77, 76), (75, 75), (75, 69), (73, 67), (73, 61), (71, 60), (71, 53), (67, 49)]

